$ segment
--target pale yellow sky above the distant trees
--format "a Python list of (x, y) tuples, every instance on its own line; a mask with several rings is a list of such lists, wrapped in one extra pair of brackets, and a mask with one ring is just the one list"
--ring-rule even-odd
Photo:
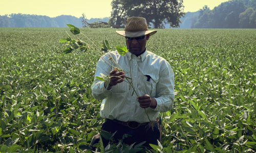
[[(139, 0), (138, 0), (139, 1)], [(196, 12), (208, 5), (210, 9), (228, 0), (183, 0), (184, 12)], [(22, 13), (56, 17), (59, 15), (82, 16), (88, 19), (110, 17), (112, 0), (1, 0), (0, 15)]]

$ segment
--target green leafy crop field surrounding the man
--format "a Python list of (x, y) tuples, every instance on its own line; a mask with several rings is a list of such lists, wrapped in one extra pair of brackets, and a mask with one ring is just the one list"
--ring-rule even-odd
[[(66, 31), (0, 29), (0, 152), (90, 149), (104, 121), (101, 101), (90, 89), (100, 57), (93, 48), (60, 56), (66, 47), (58, 40), (67, 37)], [(104, 39), (111, 48), (125, 45), (115, 29), (81, 32), (99, 47)], [(150, 38), (147, 49), (174, 69), (176, 94), (173, 110), (161, 113), (162, 145), (155, 150), (256, 149), (255, 36), (256, 30), (162, 29)], [(132, 146), (130, 152), (138, 148)], [(106, 150), (111, 149), (129, 151), (125, 145)]]

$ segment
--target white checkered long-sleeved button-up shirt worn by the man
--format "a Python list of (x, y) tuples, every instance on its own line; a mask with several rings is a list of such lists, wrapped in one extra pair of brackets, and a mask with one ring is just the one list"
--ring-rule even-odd
[[(118, 54), (117, 51), (110, 52), (110, 54), (122, 69), (127, 71), (126, 77), (133, 79), (133, 85), (139, 96), (147, 94), (156, 99), (157, 107), (155, 109), (146, 108), (151, 120), (155, 120), (159, 116), (159, 112), (167, 112), (173, 108), (174, 72), (164, 58), (147, 50), (138, 57), (130, 52), (124, 56)], [(108, 57), (103, 56), (103, 58), (110, 63)], [(100, 73), (109, 75), (113, 68), (102, 58), (97, 63), (91, 89), (92, 95), (96, 99), (103, 99), (100, 116), (120, 121), (148, 122), (144, 109), (140, 107), (137, 101), (137, 95), (134, 93), (132, 96), (133, 89), (129, 90), (128, 83), (122, 82), (113, 86), (111, 90), (106, 90), (104, 82), (96, 79), (96, 77), (101, 76)], [(150, 75), (150, 80), (146, 75)]]

